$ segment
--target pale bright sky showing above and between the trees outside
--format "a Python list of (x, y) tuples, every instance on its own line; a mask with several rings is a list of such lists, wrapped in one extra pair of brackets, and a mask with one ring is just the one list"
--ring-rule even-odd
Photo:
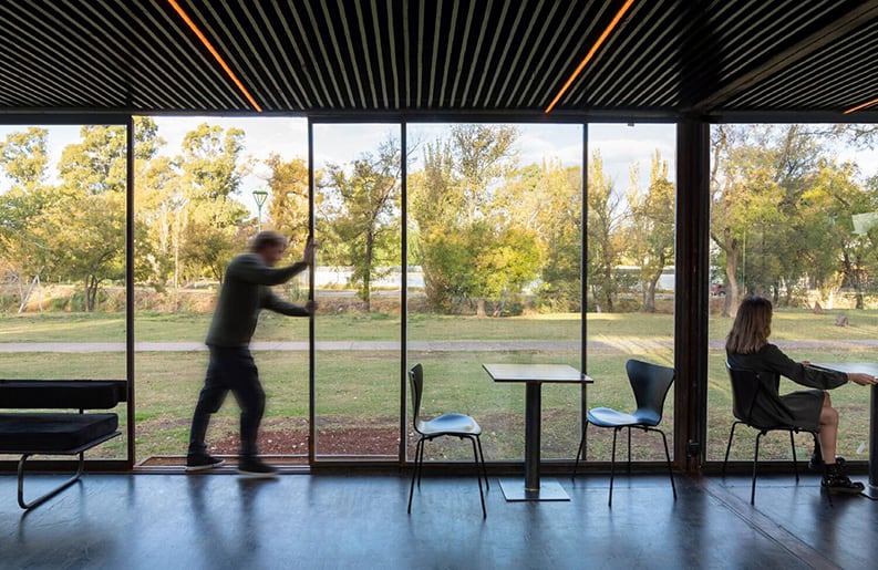
[[(166, 142), (162, 153), (179, 154), (184, 135), (202, 123), (224, 128), (239, 127), (245, 132), (246, 156), (255, 158), (256, 167), (247, 175), (241, 185), (241, 200), (251, 209), (250, 193), (267, 186), (267, 167), (260, 164), (269, 154), (279, 154), (283, 159), (307, 158), (308, 123), (301, 117), (221, 117), (221, 116), (156, 116), (158, 136)], [(560, 159), (565, 165), (578, 165), (582, 156), (582, 131), (580, 125), (518, 124), (519, 138), (517, 152), (519, 164), (539, 164), (544, 158)], [(0, 125), (0, 141), (11, 132), (24, 127)], [(445, 124), (410, 124), (410, 141), (434, 141), (441, 136)], [(50, 128), (50, 154), (54, 163), (68, 144), (79, 139), (79, 126), (52, 126)], [(345, 164), (364, 152), (373, 152), (389, 132), (396, 132), (391, 124), (320, 124), (314, 127), (316, 163), (318, 168), (328, 162)], [(624, 191), (629, 185), (629, 168), (632, 163), (640, 164), (643, 187), (648, 183), (650, 159), (658, 149), (669, 162), (670, 175), (675, 172), (675, 127), (673, 124), (590, 124), (590, 148), (599, 149), (603, 159), (605, 173), (614, 180), (616, 188)], [(856, 151), (839, 148), (841, 159), (855, 159), (864, 176), (878, 174), (878, 151)], [(0, 191), (9, 187), (9, 182), (0, 176)]]

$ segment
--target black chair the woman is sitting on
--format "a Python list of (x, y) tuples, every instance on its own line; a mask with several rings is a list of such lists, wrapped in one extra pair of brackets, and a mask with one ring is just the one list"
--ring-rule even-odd
[[(758, 372), (752, 370), (733, 369), (727, 362), (729, 379), (732, 382), (732, 413), (735, 421), (732, 423), (732, 431), (729, 433), (729, 444), (725, 446), (725, 459), (723, 460), (723, 475), (725, 465), (729, 463), (729, 452), (732, 449), (732, 438), (735, 435), (735, 427), (744, 424), (756, 429), (756, 448), (753, 453), (753, 483), (750, 491), (750, 504), (756, 499), (756, 464), (760, 460), (760, 438), (768, 432), (789, 432), (789, 445), (793, 448), (793, 469), (798, 483), (798, 462), (796, 460), (796, 442), (793, 434), (806, 432), (814, 437), (814, 445), (817, 446), (818, 431), (807, 429), (796, 425), (793, 414), (784, 402), (774, 391), (765, 390), (763, 379)], [(757, 417), (754, 418), (754, 411), (758, 410)]]

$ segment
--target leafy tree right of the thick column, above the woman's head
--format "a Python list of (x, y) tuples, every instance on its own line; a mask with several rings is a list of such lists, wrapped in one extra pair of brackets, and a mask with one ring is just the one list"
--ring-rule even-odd
[(803, 279), (826, 281), (837, 251), (826, 214), (808, 208), (826, 152), (802, 125), (720, 126), (714, 136), (711, 237), (721, 251), (726, 298), (723, 314), (747, 292), (783, 292), (785, 302)]

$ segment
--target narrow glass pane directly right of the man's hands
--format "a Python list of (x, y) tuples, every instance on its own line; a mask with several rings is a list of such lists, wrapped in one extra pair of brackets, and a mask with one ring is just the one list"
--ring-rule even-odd
[(316, 124), (314, 456), (400, 453), (399, 125)]

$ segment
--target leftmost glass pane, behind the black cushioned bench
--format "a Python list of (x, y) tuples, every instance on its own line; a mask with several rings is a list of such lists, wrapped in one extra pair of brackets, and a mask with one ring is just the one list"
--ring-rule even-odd
[[(126, 379), (126, 138), (0, 126), (0, 379)], [(113, 412), (124, 434), (125, 404)], [(124, 459), (126, 442), (89, 456)]]

